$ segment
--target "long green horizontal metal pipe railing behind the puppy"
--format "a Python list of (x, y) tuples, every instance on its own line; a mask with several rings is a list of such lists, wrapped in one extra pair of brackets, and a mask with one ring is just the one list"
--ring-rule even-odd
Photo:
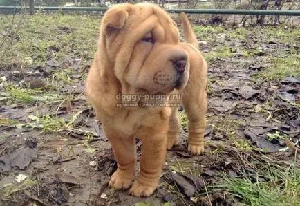
[[(28, 9), (22, 6), (0, 6), (0, 10)], [(57, 7), (35, 6), (35, 10), (62, 10), (62, 11), (106, 11), (106, 7)], [(166, 9), (170, 13), (185, 12), (189, 14), (219, 14), (219, 15), (282, 15), (300, 16), (300, 10), (225, 10), (225, 9)]]

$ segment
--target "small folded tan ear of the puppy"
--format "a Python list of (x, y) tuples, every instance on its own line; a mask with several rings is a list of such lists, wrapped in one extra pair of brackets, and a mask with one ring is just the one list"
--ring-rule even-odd
[(124, 8), (113, 8), (108, 10), (103, 17), (104, 19), (102, 22), (106, 35), (109, 35), (109, 33), (115, 30), (121, 29), (128, 16), (129, 13)]

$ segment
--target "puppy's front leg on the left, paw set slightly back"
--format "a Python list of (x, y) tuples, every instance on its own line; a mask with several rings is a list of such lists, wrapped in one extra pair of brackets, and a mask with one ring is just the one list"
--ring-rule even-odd
[(106, 133), (111, 147), (113, 147), (113, 153), (115, 160), (118, 162), (118, 169), (111, 176), (109, 186), (115, 189), (127, 189), (130, 187), (133, 174), (135, 170), (135, 141), (132, 137), (120, 137), (116, 131), (111, 128), (105, 127)]

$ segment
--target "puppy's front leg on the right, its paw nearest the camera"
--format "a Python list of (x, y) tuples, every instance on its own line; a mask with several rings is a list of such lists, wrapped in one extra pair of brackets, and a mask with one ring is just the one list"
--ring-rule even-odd
[(165, 122), (165, 128), (161, 126), (162, 124), (154, 129), (147, 128), (142, 131), (140, 176), (130, 189), (134, 196), (150, 196), (158, 185), (167, 152), (168, 122)]

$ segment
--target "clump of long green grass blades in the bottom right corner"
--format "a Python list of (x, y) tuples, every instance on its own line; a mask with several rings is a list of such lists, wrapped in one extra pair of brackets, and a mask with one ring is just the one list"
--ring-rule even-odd
[(248, 162), (255, 174), (232, 178), (223, 174), (223, 181), (212, 191), (225, 191), (245, 205), (299, 205), (300, 170), (295, 165), (282, 165), (263, 156)]

